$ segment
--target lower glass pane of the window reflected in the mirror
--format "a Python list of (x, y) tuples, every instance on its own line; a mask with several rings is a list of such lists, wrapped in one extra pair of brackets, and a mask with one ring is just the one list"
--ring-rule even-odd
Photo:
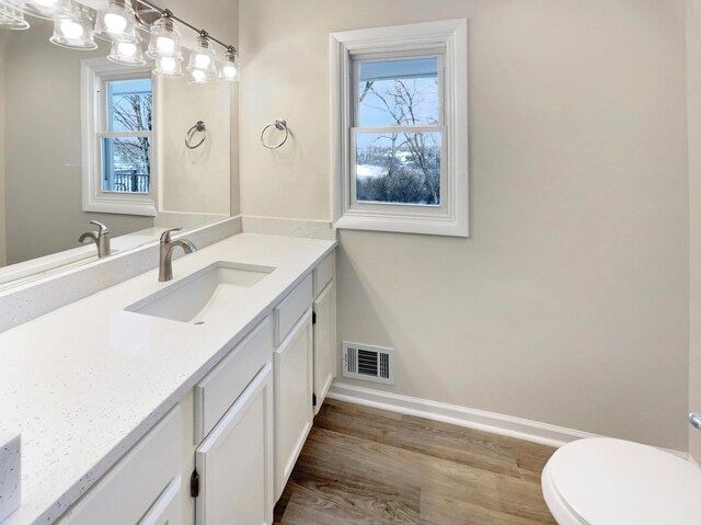
[(102, 191), (149, 193), (150, 141), (146, 137), (102, 139)]

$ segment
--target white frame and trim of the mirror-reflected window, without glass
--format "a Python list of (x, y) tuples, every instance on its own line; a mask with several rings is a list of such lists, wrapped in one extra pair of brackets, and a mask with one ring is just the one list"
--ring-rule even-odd
[[(106, 58), (89, 58), (81, 61), (81, 144), (82, 144), (82, 205), (83, 212), (105, 214), (158, 215), (157, 119), (153, 117), (149, 134), (150, 178), (149, 193), (122, 193), (102, 191), (102, 138), (110, 134), (103, 129), (106, 118), (104, 85), (106, 81), (130, 80), (150, 77), (150, 68), (123, 66)], [(153, 116), (157, 109), (157, 82), (152, 82)], [(147, 132), (145, 132), (147, 133)], [(139, 136), (135, 134), (134, 136)]]

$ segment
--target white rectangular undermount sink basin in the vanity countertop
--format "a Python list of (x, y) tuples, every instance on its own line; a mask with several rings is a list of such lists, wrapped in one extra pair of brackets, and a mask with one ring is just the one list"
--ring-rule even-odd
[(172, 321), (204, 324), (226, 311), (246, 289), (275, 269), (219, 261), (152, 294), (125, 309)]

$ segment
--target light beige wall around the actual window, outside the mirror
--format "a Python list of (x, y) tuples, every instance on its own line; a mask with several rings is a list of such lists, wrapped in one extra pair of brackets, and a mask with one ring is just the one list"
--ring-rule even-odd
[(387, 390), (686, 449), (685, 0), (241, 0), (242, 213), (330, 217), (329, 32), (452, 18), (471, 238), (342, 231), (340, 339), (397, 349)]

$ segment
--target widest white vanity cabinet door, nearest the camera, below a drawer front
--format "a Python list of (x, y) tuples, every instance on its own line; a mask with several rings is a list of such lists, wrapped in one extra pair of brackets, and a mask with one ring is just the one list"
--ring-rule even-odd
[(195, 453), (198, 525), (273, 523), (273, 443), (268, 363)]

